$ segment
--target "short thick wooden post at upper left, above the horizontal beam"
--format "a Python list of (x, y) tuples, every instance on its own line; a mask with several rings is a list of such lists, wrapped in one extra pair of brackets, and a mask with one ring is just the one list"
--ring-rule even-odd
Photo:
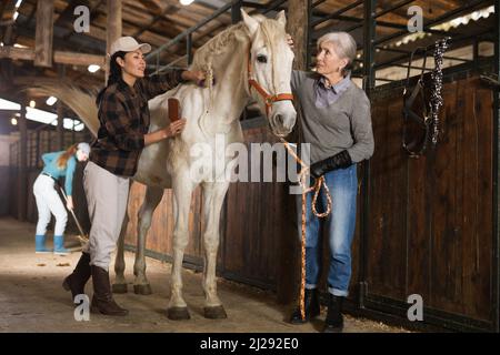
[(34, 65), (52, 67), (53, 0), (39, 0), (34, 39)]

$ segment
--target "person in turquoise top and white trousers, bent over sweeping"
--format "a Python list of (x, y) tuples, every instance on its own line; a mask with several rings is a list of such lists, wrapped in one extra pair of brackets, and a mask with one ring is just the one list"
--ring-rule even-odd
[(66, 206), (73, 210), (72, 184), (74, 170), (78, 162), (84, 162), (89, 159), (90, 145), (88, 143), (77, 143), (66, 151), (46, 153), (42, 155), (43, 170), (33, 184), (33, 194), (37, 201), (38, 222), (34, 236), (36, 253), (52, 253), (52, 250), (46, 246), (47, 226), (50, 223), (51, 214), (56, 217), (53, 232), (53, 253), (66, 255), (69, 253), (64, 248), (64, 230), (68, 222), (68, 213), (56, 191), (56, 184), (60, 178), (64, 178), (64, 191), (67, 195)]

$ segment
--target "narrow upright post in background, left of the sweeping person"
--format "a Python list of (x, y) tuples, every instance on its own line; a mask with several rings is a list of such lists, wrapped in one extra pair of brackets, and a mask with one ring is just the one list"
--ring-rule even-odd
[(21, 100), (19, 116), (19, 173), (18, 173), (18, 219), (26, 221), (28, 203), (28, 128), (26, 123), (26, 98)]

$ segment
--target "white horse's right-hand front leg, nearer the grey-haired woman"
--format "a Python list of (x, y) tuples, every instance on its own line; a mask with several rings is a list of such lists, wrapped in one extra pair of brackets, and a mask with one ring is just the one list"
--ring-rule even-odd
[(224, 307), (217, 294), (217, 251), (219, 248), (220, 211), (228, 191), (229, 182), (211, 182), (203, 184), (203, 231), (204, 268), (203, 290), (206, 296), (204, 317), (227, 318)]

